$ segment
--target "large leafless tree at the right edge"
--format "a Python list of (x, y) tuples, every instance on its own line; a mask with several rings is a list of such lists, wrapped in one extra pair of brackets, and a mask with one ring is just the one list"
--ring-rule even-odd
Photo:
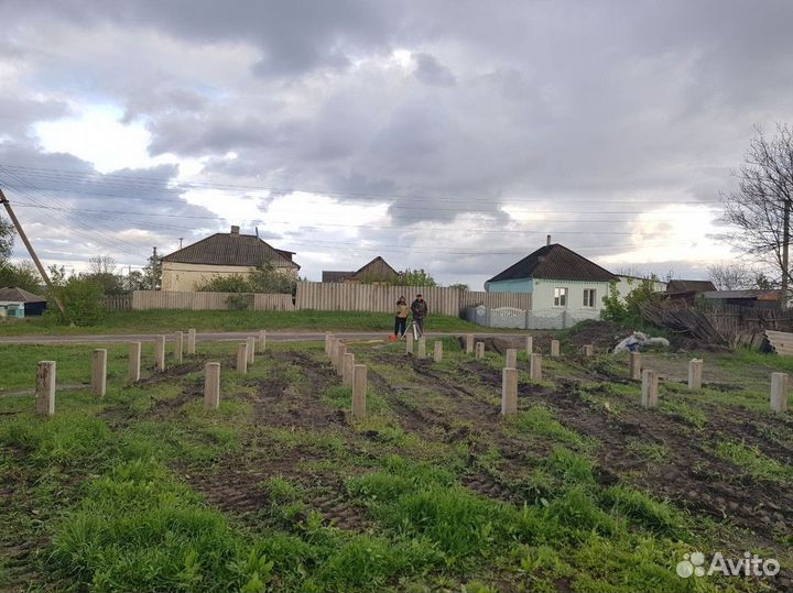
[[(734, 172), (738, 189), (721, 196), (723, 220), (732, 228), (724, 238), (778, 271), (782, 293), (787, 295), (793, 129), (779, 123), (771, 138), (760, 128), (756, 130), (743, 165)], [(786, 301), (784, 298), (783, 303)]]

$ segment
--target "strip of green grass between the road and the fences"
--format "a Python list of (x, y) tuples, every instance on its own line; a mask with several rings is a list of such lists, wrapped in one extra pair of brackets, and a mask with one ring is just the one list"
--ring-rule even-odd
[[(106, 314), (102, 322), (88, 327), (52, 325), (43, 317), (0, 322), (0, 336), (79, 336), (101, 333), (159, 333), (196, 328), (200, 331), (393, 331), (393, 315), (368, 311), (187, 311), (153, 309)], [(463, 319), (431, 315), (427, 331), (481, 331)]]

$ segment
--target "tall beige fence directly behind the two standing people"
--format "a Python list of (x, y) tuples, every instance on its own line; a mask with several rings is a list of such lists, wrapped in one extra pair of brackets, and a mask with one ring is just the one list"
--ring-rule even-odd
[(427, 301), (430, 312), (436, 315), (459, 317), (466, 308), (478, 305), (490, 308), (531, 309), (530, 294), (482, 293), (437, 286), (381, 286), (318, 282), (297, 283), (295, 307), (319, 311), (391, 312), (400, 296), (404, 296), (410, 305), (415, 295), (420, 293)]

